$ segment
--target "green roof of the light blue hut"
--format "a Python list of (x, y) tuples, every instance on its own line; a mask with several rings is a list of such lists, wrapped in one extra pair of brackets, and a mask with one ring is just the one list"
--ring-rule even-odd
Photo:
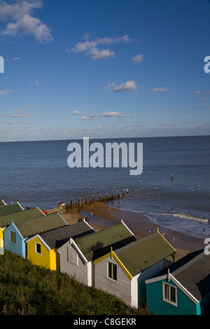
[(59, 214), (52, 214), (47, 216), (41, 216), (38, 218), (28, 219), (15, 223), (22, 237), (27, 238), (39, 233), (55, 230), (67, 225), (62, 216)]

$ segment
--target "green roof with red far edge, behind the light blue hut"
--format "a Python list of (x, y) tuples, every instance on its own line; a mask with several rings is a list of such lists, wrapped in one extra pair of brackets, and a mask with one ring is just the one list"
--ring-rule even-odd
[(0, 228), (6, 228), (11, 223), (18, 223), (20, 221), (26, 221), (27, 219), (45, 216), (43, 212), (37, 207), (19, 211), (18, 213), (8, 214), (0, 216)]

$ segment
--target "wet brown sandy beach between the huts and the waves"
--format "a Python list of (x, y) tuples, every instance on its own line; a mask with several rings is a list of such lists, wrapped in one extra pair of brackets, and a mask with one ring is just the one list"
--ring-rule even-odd
[(111, 202), (92, 202), (92, 204), (87, 204), (82, 209), (69, 209), (62, 213), (62, 217), (70, 225), (87, 216), (89, 217), (90, 225), (96, 231), (118, 223), (123, 219), (137, 239), (146, 237), (159, 230), (165, 239), (176, 249), (176, 260), (205, 246), (203, 239), (197, 239), (183, 235), (181, 232), (162, 228), (160, 225), (158, 226), (149, 221), (142, 214), (111, 207)]

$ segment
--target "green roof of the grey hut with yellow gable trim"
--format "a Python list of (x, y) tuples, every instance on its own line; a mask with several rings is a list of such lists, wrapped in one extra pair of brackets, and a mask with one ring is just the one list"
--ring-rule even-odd
[(175, 252), (176, 250), (159, 232), (134, 241), (115, 251), (132, 276), (141, 273)]

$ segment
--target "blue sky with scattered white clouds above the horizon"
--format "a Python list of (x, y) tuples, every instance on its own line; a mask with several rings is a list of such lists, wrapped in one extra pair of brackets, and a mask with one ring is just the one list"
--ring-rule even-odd
[(210, 1), (0, 0), (0, 141), (210, 134)]

